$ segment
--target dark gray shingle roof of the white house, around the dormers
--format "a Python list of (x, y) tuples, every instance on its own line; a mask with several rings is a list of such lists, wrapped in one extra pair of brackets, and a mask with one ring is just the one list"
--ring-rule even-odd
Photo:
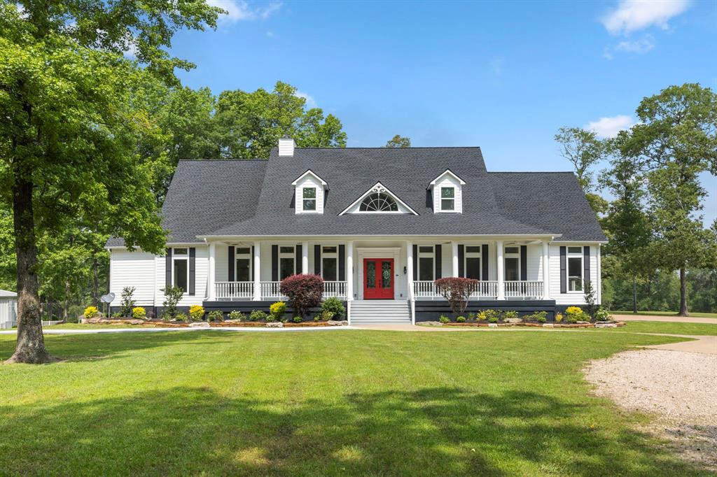
[[(291, 183), (308, 169), (331, 186), (323, 214), (294, 211)], [(463, 213), (432, 211), (426, 187), (446, 169), (466, 182)], [(419, 215), (338, 215), (379, 181)], [(275, 148), (269, 160), (180, 161), (163, 226), (171, 241), (188, 243), (272, 235), (605, 238), (572, 173), (488, 173), (480, 148), (297, 148), (293, 157)]]

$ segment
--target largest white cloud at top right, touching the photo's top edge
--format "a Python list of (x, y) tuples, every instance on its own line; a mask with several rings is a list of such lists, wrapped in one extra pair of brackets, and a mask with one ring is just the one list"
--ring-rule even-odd
[(668, 29), (668, 20), (685, 11), (689, 0), (620, 0), (617, 8), (602, 17), (610, 34), (628, 34), (657, 25)]

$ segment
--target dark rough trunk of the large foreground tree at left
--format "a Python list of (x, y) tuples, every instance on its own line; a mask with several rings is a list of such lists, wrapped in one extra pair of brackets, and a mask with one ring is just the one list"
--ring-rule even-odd
[(54, 361), (44, 347), (37, 281), (37, 244), (32, 215), (32, 182), (15, 171), (13, 185), (15, 256), (17, 259), (17, 344), (6, 362)]

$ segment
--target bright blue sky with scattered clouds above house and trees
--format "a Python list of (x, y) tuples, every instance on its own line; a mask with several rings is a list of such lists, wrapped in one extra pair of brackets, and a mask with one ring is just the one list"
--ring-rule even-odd
[[(298, 87), (348, 146), (395, 134), (480, 145), (488, 170), (569, 170), (563, 126), (614, 134), (668, 85), (717, 89), (717, 1), (250, 2), (215, 32), (180, 32), (184, 85)], [(709, 223), (717, 180), (705, 175)]]

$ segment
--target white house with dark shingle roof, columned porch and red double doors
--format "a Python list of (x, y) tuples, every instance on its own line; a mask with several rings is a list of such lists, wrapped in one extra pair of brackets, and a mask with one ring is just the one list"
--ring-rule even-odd
[[(600, 300), (606, 238), (573, 173), (490, 173), (480, 148), (295, 148), (268, 160), (182, 160), (163, 206), (166, 255), (112, 238), (110, 291), (158, 312), (267, 309), (280, 281), (319, 274), (352, 322), (435, 319), (433, 281), (478, 279), (469, 311)], [(113, 302), (118, 307), (119, 298)]]

